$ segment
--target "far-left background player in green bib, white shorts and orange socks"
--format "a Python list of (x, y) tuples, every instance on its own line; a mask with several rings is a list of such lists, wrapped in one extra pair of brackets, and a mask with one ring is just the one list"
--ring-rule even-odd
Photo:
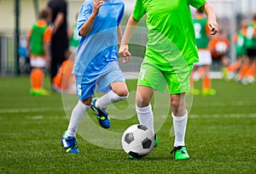
[(32, 95), (49, 95), (44, 86), (44, 68), (50, 63), (49, 42), (51, 32), (48, 26), (49, 8), (39, 12), (39, 20), (27, 32), (27, 53), (30, 57), (32, 70), (30, 73)]

